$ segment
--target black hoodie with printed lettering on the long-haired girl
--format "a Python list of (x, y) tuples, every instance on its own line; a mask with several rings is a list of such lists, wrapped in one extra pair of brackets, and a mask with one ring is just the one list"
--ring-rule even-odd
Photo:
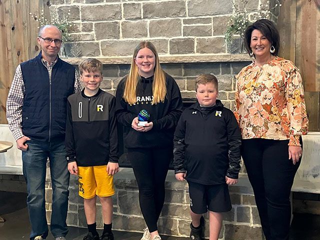
[[(127, 148), (172, 146), (174, 129), (182, 112), (182, 99), (175, 80), (168, 74), (165, 76), (166, 97), (164, 102), (155, 105), (151, 104), (153, 76), (141, 77), (135, 104), (128, 104), (123, 99), (126, 76), (119, 82), (115, 93), (115, 114), (118, 122), (124, 126), (124, 144)], [(150, 113), (149, 121), (153, 122), (152, 129), (147, 132), (139, 132), (131, 127), (133, 118), (142, 109)]]

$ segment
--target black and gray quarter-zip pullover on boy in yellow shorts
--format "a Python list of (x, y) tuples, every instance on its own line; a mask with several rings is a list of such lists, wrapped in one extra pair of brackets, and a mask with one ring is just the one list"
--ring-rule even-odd
[(118, 161), (115, 98), (99, 89), (93, 96), (84, 89), (68, 97), (65, 129), (67, 162), (98, 166)]

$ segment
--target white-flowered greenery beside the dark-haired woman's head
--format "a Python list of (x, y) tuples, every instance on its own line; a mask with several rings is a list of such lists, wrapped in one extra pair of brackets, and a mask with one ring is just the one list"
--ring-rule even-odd
[(225, 43), (228, 45), (232, 41), (232, 36), (234, 34), (240, 35), (242, 39), (241, 52), (243, 50), (243, 40), (244, 32), (247, 26), (249, 26), (254, 21), (266, 18), (270, 19), (272, 9), (280, 7), (281, 4), (275, 4), (273, 7), (269, 7), (269, 0), (265, 4), (260, 3), (257, 12), (248, 12), (246, 9), (246, 4), (248, 0), (240, 0), (243, 3), (243, 8), (235, 3), (235, 0), (231, 0), (233, 6), (232, 15), (227, 23), (227, 28), (224, 34)]

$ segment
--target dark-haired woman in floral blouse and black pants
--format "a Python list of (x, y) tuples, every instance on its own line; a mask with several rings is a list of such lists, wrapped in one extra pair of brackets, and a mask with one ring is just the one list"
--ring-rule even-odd
[(302, 155), (308, 118), (299, 69), (277, 56), (279, 34), (260, 19), (245, 31), (255, 59), (236, 75), (235, 116), (241, 155), (267, 240), (289, 239), (290, 190)]

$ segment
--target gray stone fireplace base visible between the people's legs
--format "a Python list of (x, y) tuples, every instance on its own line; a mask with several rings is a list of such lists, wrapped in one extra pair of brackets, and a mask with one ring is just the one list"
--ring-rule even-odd
[[(242, 175), (243, 176), (243, 175)], [(49, 175), (46, 182), (46, 209), (47, 220), (51, 215), (51, 183)], [(145, 228), (139, 201), (136, 180), (130, 168), (124, 168), (115, 175), (115, 195), (113, 195), (113, 221), (112, 228), (121, 231), (142, 232)], [(83, 199), (78, 196), (77, 178), (71, 176), (69, 186), (69, 208), (67, 224), (70, 226), (86, 227)], [(165, 182), (166, 196), (164, 206), (158, 221), (161, 234), (187, 237), (190, 231), (189, 195), (186, 182), (179, 182), (174, 178), (173, 171), (169, 171)], [(254, 201), (252, 188), (245, 184), (230, 186), (232, 203), (231, 211), (224, 213), (223, 224), (219, 239), (229, 240), (260, 240), (262, 238), (261, 225)], [(208, 215), (204, 214), (206, 221), (205, 236), (208, 237)], [(97, 199), (96, 223), (103, 228), (101, 204)]]

